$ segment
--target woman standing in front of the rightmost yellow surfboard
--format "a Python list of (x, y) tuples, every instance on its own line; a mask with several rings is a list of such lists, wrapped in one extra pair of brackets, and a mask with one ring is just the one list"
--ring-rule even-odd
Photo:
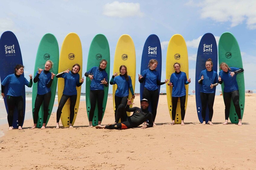
[(184, 124), (185, 118), (185, 103), (186, 103), (186, 88), (185, 85), (188, 85), (191, 80), (187, 79), (186, 73), (180, 71), (180, 63), (173, 64), (175, 72), (171, 74), (169, 86), (173, 86), (172, 91), (172, 119), (173, 122), (171, 125), (175, 124), (175, 116), (178, 99), (180, 98), (180, 110), (181, 110), (181, 125)]

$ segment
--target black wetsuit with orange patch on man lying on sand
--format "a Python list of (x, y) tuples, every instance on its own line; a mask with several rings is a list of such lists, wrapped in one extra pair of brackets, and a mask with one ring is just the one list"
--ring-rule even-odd
[[(126, 112), (133, 112), (131, 116), (127, 116)], [(117, 123), (114, 125), (108, 125), (106, 129), (128, 129), (128, 128), (136, 128), (137, 126), (141, 125), (143, 122), (149, 120), (149, 124), (147, 125), (148, 128), (153, 127), (153, 116), (152, 113), (148, 110), (142, 110), (138, 107), (129, 108), (129, 105), (126, 107), (123, 104), (120, 104), (117, 108), (116, 113), (116, 121), (121, 117), (127, 117), (127, 121), (122, 123)]]

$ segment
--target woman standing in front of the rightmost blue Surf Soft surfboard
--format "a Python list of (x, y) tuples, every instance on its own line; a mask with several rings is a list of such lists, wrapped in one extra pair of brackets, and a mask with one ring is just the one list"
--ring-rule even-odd
[(212, 70), (212, 59), (209, 58), (205, 62), (206, 69), (201, 71), (198, 83), (201, 84), (200, 88), (200, 97), (202, 103), (202, 117), (203, 123), (205, 125), (205, 116), (206, 116), (206, 107), (208, 104), (209, 110), (209, 125), (213, 125), (212, 116), (213, 116), (213, 103), (215, 98), (216, 85), (218, 85), (218, 74)]

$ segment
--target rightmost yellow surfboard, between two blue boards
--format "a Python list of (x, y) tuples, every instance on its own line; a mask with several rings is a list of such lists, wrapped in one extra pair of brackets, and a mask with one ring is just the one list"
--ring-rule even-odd
[[(167, 48), (167, 56), (166, 56), (166, 79), (170, 79), (172, 73), (175, 72), (173, 68), (174, 63), (180, 63), (180, 71), (185, 72), (187, 75), (187, 79), (189, 79), (189, 71), (188, 71), (188, 52), (186, 42), (180, 34), (175, 34), (171, 37), (168, 48)], [(185, 111), (187, 107), (188, 101), (188, 85), (186, 87), (186, 103), (185, 103)], [(166, 83), (166, 94), (167, 94), (167, 104), (168, 110), (172, 118), (172, 86), (168, 86)], [(178, 99), (176, 116), (175, 116), (175, 124), (181, 124), (181, 113), (180, 113), (180, 98)]]

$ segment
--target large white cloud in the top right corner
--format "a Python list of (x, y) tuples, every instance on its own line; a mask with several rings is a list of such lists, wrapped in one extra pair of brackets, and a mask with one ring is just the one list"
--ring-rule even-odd
[(231, 22), (230, 26), (237, 26), (246, 21), (248, 29), (256, 29), (256, 1), (255, 0), (205, 0), (200, 2), (201, 18), (211, 18), (216, 22)]

